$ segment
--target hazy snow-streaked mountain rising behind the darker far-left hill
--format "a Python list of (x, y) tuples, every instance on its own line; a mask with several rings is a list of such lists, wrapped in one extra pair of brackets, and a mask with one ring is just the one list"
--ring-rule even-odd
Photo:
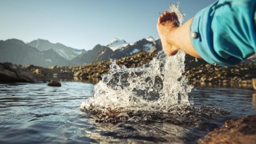
[(63, 58), (66, 58), (66, 60), (71, 60), (72, 58), (75, 58), (75, 56), (78, 56), (79, 54), (83, 54), (85, 52), (84, 49), (74, 49), (72, 47), (67, 47), (66, 45), (63, 45), (61, 43), (51, 43), (48, 40), (33, 40), (30, 43), (27, 43), (28, 45), (31, 45), (31, 47), (36, 47), (39, 51), (46, 51), (49, 49), (53, 49), (55, 52), (60, 54)]

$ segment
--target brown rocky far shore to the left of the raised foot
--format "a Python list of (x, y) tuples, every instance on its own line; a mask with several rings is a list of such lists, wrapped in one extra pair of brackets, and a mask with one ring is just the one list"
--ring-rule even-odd
[[(134, 56), (120, 58), (116, 64), (127, 67), (138, 67), (149, 63), (157, 53), (138, 53)], [(78, 80), (101, 80), (101, 75), (107, 73), (110, 69), (110, 61), (95, 62), (81, 66), (51, 66), (39, 67), (33, 65), (24, 66), (24, 69), (42, 77), (44, 80), (51, 78), (76, 78)]]

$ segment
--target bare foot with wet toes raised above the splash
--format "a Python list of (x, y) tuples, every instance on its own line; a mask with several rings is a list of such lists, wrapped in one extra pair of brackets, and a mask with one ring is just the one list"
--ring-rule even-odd
[(173, 32), (179, 27), (177, 15), (172, 12), (164, 12), (157, 21), (157, 31), (162, 43), (162, 49), (168, 56), (173, 56), (179, 50), (173, 43)]

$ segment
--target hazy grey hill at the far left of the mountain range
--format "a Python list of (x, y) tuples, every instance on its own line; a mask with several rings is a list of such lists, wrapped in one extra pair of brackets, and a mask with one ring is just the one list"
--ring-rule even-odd
[(57, 54), (53, 49), (38, 51), (21, 40), (0, 40), (0, 62), (13, 64), (33, 64), (36, 66), (67, 66), (71, 62)]

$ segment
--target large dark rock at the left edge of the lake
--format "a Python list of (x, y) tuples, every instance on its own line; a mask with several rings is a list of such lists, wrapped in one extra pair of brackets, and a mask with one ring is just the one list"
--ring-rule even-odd
[(0, 82), (38, 82), (40, 78), (12, 63), (0, 63)]

